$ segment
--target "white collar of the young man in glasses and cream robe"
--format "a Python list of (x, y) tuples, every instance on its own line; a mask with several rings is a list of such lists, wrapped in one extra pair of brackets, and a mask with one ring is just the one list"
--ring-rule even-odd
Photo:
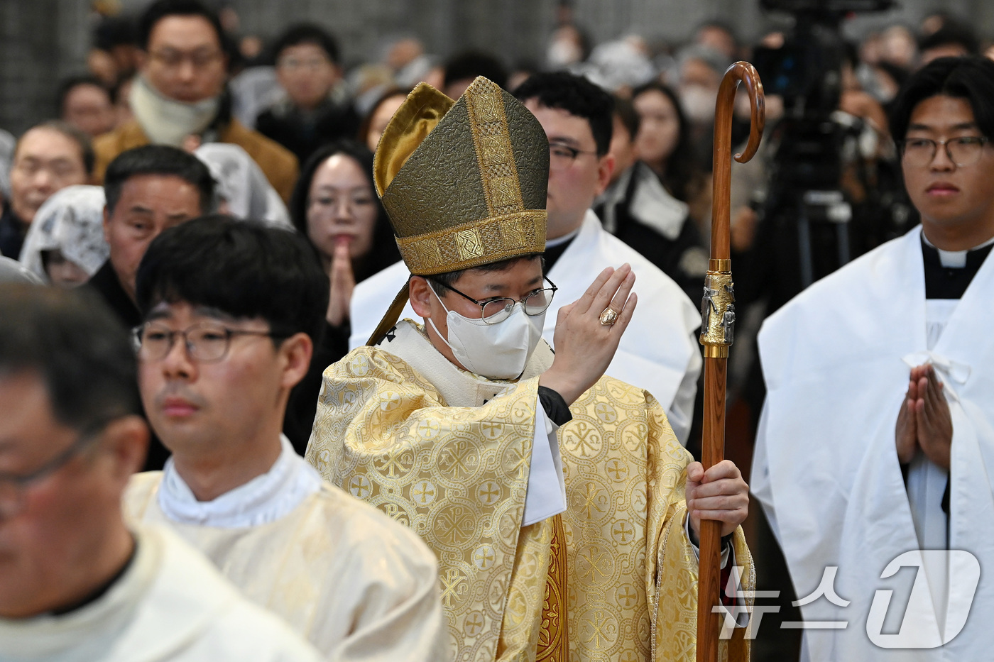
[(181, 524), (235, 529), (275, 522), (321, 489), (321, 476), (280, 434), (282, 450), (268, 471), (213, 501), (198, 501), (172, 458), (166, 461), (158, 490), (159, 508)]

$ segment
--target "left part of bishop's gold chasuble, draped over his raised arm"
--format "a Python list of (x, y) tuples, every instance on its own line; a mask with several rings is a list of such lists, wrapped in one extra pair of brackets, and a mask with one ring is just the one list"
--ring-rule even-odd
[(367, 346), (324, 374), (306, 459), (437, 555), (453, 660), (534, 659), (552, 539), (548, 521), (521, 528), (537, 396), (533, 378), (482, 407), (445, 407), (406, 362)]

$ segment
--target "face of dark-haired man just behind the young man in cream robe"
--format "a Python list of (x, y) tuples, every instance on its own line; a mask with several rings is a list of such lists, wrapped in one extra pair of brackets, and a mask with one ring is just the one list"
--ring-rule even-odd
[(145, 250), (167, 228), (203, 216), (200, 190), (176, 175), (134, 175), (121, 187), (111, 214), (103, 211), (110, 265), (134, 299), (134, 279)]

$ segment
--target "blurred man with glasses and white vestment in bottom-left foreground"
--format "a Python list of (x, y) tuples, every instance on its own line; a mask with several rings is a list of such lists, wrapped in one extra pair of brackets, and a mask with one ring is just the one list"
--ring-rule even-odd
[(320, 659), (174, 534), (125, 524), (140, 411), (98, 300), (0, 284), (0, 657)]

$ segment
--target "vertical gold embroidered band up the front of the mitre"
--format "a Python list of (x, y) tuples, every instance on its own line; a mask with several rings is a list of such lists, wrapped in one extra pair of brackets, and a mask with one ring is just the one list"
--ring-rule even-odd
[(464, 98), (489, 215), (504, 216), (522, 211), (525, 203), (521, 198), (518, 166), (514, 161), (500, 87), (476, 79)]

